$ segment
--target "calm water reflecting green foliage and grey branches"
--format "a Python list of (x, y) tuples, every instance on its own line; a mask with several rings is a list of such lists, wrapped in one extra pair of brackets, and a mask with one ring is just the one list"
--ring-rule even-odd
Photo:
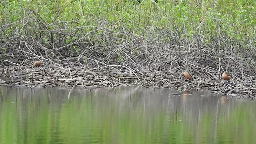
[(255, 144), (256, 100), (207, 90), (0, 87), (0, 144)]

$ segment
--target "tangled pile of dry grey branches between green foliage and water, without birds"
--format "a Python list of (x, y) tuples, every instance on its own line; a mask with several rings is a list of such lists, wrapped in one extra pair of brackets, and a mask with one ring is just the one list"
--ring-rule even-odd
[[(38, 56), (43, 66), (33, 68), (33, 56), (20, 63), (4, 60), (10, 66), (2, 66), (0, 69), (2, 71), (0, 85), (115, 87), (139, 84), (159, 88), (208, 88), (213, 92), (255, 98), (256, 78), (253, 73), (255, 69), (252, 70), (253, 67), (246, 64), (250, 59), (228, 57), (229, 54), (220, 59), (202, 48), (201, 53), (195, 52), (198, 49), (194, 48), (189, 52), (180, 52), (180, 56), (175, 56), (176, 52), (168, 48), (156, 49), (157, 53), (142, 51), (136, 56), (140, 57), (138, 60), (131, 58), (132, 54), (129, 54), (130, 62), (126, 60), (119, 64), (106, 64), (106, 61), (92, 58), (82, 59), (83, 62), (86, 61), (82, 64), (79, 61), (82, 56), (62, 58), (62, 60), (48, 60)], [(217, 51), (212, 50), (212, 52)], [(225, 54), (224, 51), (222, 52)], [(78, 60), (74, 61), (74, 59)], [(224, 82), (220, 78), (222, 72), (226, 71), (222, 68), (223, 65), (234, 77), (230, 82)], [(184, 80), (180, 74), (182, 71), (189, 71), (194, 81)]]

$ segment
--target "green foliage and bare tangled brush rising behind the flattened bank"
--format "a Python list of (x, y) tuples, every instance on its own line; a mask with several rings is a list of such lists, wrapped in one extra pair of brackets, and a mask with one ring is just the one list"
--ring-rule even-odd
[(256, 70), (255, 5), (253, 0), (4, 0), (0, 59), (16, 66), (40, 59), (44, 66), (114, 68), (140, 80), (148, 78), (144, 72), (177, 76), (184, 70), (211, 79), (228, 70), (243, 79)]

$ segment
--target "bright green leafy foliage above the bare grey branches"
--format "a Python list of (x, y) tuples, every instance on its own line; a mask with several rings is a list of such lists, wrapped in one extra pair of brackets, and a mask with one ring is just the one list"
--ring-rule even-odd
[[(75, 34), (103, 36), (99, 27), (111, 26), (114, 32), (124, 30), (133, 36), (142, 36), (149, 28), (164, 29), (174, 36), (194, 40), (200, 38), (206, 44), (228, 36), (241, 44), (255, 44), (255, 2), (253, 0), (34, 0), (0, 2), (0, 24), (5, 36), (16, 31), (29, 33), (28, 37), (40, 37), (49, 43), (49, 31), (63, 29), (68, 36)], [(22, 23), (23, 22), (23, 23)], [(107, 24), (106, 24), (107, 23)], [(28, 24), (28, 26), (24, 26)], [(123, 35), (116, 42), (120, 42)], [(53, 39), (58, 39), (58, 34)], [(108, 45), (101, 38), (94, 42)], [(66, 39), (70, 44), (74, 39)], [(127, 38), (129, 40), (129, 38)], [(167, 39), (168, 40), (168, 39)], [(73, 47), (78, 51), (76, 47)]]

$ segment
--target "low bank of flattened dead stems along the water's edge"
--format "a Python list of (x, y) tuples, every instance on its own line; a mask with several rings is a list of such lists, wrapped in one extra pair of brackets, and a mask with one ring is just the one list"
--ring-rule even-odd
[(142, 85), (180, 90), (206, 88), (222, 95), (256, 98), (254, 96), (256, 93), (254, 77), (237, 78), (235, 74), (233, 80), (224, 81), (220, 78), (210, 78), (207, 74), (197, 73), (200, 76), (196, 76), (196, 73), (193, 72), (194, 81), (190, 82), (185, 80), (179, 71), (144, 70), (139, 72), (126, 66), (101, 64), (102, 66), (98, 68), (88, 68), (82, 64), (71, 68), (65, 64), (55, 64), (44, 60), (43, 65), (37, 68), (33, 68), (31, 65), (19, 66), (19, 64), (4, 66), (0, 68), (0, 86), (39, 86), (42, 88), (84, 86), (86, 88), (86, 86)]

